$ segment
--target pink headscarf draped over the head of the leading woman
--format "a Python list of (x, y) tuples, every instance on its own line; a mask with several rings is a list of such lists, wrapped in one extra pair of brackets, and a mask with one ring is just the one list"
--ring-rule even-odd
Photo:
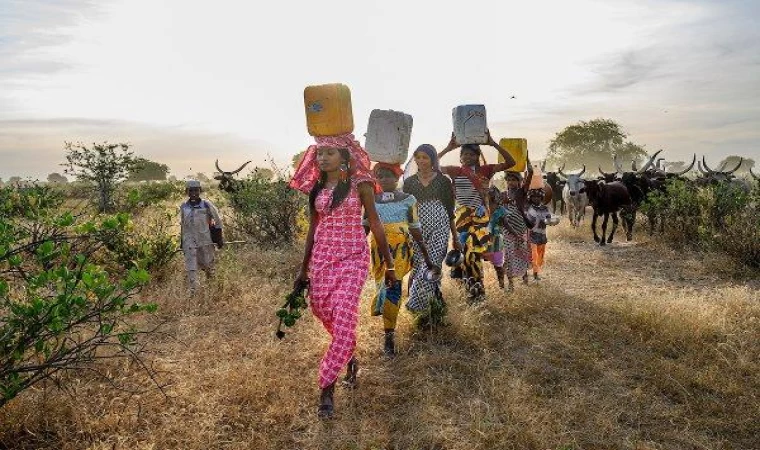
[(316, 144), (310, 145), (304, 154), (301, 163), (298, 164), (296, 172), (290, 179), (289, 186), (305, 194), (311, 192), (311, 189), (319, 181), (320, 171), (317, 164), (317, 150), (320, 148), (345, 148), (351, 155), (349, 160), (349, 174), (351, 178), (357, 181), (369, 181), (373, 184), (376, 192), (379, 192), (379, 186), (375, 183), (375, 178), (369, 168), (369, 156), (367, 152), (359, 145), (359, 142), (351, 133), (341, 134), (338, 136), (315, 136)]

